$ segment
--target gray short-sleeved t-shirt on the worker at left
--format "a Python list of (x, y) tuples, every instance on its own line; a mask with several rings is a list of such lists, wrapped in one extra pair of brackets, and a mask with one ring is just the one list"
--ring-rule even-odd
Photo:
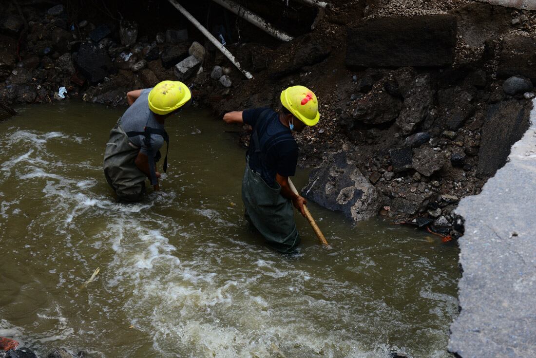
[[(164, 129), (164, 126), (157, 122), (154, 118), (154, 114), (149, 109), (149, 92), (152, 88), (146, 88), (142, 90), (142, 94), (132, 103), (123, 116), (121, 117), (121, 126), (125, 132), (143, 132), (145, 126), (151, 128)], [(133, 145), (140, 148), (140, 152), (148, 155), (148, 148), (144, 143), (145, 137), (143, 135), (134, 136), (129, 138)], [(151, 147), (153, 153), (156, 153), (164, 144), (162, 136), (152, 134), (151, 135)]]

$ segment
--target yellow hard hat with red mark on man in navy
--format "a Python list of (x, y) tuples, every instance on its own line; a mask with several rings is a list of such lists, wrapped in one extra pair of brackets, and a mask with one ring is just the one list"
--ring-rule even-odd
[(307, 125), (315, 125), (320, 118), (316, 96), (307, 87), (288, 87), (281, 92), (281, 104)]

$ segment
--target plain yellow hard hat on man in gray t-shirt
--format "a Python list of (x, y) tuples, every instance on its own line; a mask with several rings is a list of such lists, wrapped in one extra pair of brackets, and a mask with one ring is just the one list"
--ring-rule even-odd
[(165, 115), (181, 108), (192, 98), (187, 85), (180, 81), (162, 81), (149, 92), (149, 108), (153, 113)]

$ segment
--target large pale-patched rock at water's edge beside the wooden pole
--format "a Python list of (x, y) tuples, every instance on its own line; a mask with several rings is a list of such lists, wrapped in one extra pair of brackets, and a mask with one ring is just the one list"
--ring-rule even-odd
[(329, 155), (313, 169), (303, 193), (307, 199), (341, 211), (355, 221), (375, 217), (381, 207), (378, 192), (346, 152)]

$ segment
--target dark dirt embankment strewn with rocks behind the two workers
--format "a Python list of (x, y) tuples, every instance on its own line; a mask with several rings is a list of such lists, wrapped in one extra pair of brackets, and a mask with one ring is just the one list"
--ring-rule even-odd
[(253, 79), (184, 19), (177, 23), (170, 5), (157, 10), (174, 21), (148, 26), (151, 5), (151, 16), (121, 19), (117, 9), (92, 16), (68, 4), (4, 4), (0, 99), (54, 102), (66, 87), (70, 98), (117, 106), (132, 88), (178, 77), (219, 117), (278, 107), (280, 91), (301, 84), (317, 94), (322, 115), (297, 136), (300, 165), (316, 167), (306, 195), (355, 220), (380, 213), (444, 234), (458, 200), (480, 192), (528, 126), (534, 12), (470, 0), (367, 0), (336, 1), (317, 16), (300, 2), (244, 3), (295, 37), (281, 43), (210, 3), (189, 10), (206, 17)]

